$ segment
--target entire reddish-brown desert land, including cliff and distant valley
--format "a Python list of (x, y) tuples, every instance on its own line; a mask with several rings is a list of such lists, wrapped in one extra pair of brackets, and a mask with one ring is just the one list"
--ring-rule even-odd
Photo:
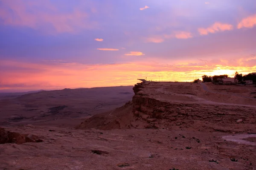
[(255, 170), (255, 94), (151, 82), (2, 97), (0, 169)]

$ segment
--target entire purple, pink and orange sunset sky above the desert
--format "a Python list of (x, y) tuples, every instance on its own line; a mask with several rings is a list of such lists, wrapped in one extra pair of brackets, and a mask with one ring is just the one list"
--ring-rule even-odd
[(255, 0), (0, 0), (0, 92), (256, 72)]

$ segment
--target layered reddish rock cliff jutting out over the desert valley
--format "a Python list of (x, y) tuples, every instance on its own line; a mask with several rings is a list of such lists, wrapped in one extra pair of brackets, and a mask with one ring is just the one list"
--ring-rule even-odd
[(198, 84), (154, 82), (137, 84), (133, 90), (134, 96), (128, 105), (100, 117), (93, 116), (78, 128), (256, 132), (255, 106), (214, 102), (210, 96), (216, 94), (209, 94)]

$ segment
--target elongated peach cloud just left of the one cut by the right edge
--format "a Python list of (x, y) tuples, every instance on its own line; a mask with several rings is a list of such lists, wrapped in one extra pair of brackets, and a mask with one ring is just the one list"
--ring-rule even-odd
[(208, 28), (198, 28), (198, 32), (200, 35), (207, 35), (209, 33), (215, 33), (219, 31), (227, 31), (227, 30), (232, 30), (233, 26), (230, 24), (224, 24), (224, 23), (214, 23), (212, 26)]

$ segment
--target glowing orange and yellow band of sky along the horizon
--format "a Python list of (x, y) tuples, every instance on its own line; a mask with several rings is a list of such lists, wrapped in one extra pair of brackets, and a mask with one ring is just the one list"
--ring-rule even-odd
[[(203, 75), (214, 76), (227, 74), (233, 77), (235, 72), (248, 74), (256, 72), (256, 66), (230, 67), (213, 66), (164, 66), (154, 63), (124, 63), (108, 65), (83, 65), (79, 63), (23, 63), (14, 61), (1, 62), (19, 72), (5, 71), (1, 89), (52, 90), (63, 88), (92, 88), (119, 85), (134, 85), (137, 79), (152, 81), (192, 82)], [(250, 72), (248, 72), (248, 69)], [(31, 71), (33, 70), (33, 71)]]

